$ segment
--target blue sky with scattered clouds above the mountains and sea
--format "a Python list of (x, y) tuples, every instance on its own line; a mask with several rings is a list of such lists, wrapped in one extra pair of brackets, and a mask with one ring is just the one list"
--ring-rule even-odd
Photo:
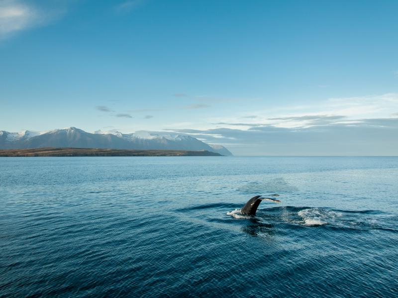
[(398, 155), (396, 0), (0, 0), (0, 130)]

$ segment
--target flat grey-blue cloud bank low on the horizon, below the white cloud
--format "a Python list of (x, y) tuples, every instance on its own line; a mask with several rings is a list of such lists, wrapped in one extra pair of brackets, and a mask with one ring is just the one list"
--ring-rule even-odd
[(238, 155), (397, 155), (397, 130), (398, 118), (380, 118), (307, 128), (259, 126), (171, 131), (227, 146)]

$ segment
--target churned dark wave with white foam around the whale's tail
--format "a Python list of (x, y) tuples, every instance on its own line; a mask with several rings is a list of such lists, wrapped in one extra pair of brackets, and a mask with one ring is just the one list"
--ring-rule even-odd
[[(238, 220), (256, 220), (268, 224), (286, 224), (284, 228), (322, 227), (337, 230), (371, 230), (380, 229), (398, 232), (398, 216), (379, 210), (340, 210), (310, 206), (278, 206), (260, 208), (255, 217), (241, 213), (242, 204), (220, 202), (187, 206), (176, 212), (195, 214), (206, 221), (220, 218), (222, 214)], [(282, 225), (281, 225), (282, 226)]]

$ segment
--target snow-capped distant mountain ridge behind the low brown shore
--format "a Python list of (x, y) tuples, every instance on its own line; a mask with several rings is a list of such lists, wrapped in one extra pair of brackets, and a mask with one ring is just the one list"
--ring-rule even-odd
[(99, 148), (99, 149), (144, 149), (144, 150), (207, 150), (221, 155), (232, 155), (223, 146), (209, 145), (194, 137), (168, 132), (137, 131), (132, 134), (120, 132), (88, 133), (76, 127), (45, 132), (23, 131), (10, 133), (0, 131), (0, 149), (31, 148)]

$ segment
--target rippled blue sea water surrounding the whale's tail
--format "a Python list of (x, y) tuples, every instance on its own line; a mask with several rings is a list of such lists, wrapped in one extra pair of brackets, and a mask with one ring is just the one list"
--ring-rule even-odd
[(398, 297), (398, 158), (0, 158), (0, 256), (4, 298)]

